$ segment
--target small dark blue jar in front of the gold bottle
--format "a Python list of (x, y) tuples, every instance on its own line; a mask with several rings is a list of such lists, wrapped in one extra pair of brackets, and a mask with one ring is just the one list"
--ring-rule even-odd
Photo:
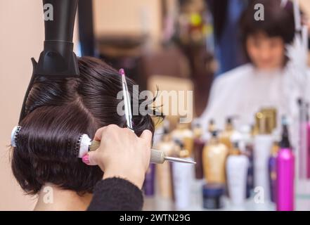
[(221, 184), (205, 184), (202, 186), (203, 207), (207, 210), (219, 210), (224, 207), (225, 188)]

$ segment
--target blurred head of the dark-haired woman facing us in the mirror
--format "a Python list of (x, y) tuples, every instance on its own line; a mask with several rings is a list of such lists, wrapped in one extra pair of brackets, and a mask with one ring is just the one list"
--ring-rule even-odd
[[(280, 0), (254, 0), (240, 20), (243, 46), (259, 69), (281, 68), (287, 61), (285, 45), (294, 38), (294, 13), (290, 1), (284, 8), (280, 4)], [(264, 20), (256, 20), (254, 15), (262, 13)]]

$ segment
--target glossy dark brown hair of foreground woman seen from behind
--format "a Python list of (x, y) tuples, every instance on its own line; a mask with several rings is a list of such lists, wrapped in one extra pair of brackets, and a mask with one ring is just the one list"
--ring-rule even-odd
[[(37, 193), (46, 183), (60, 188), (91, 192), (103, 172), (77, 158), (81, 134), (92, 137), (108, 124), (126, 127), (117, 113), (117, 93), (122, 91), (117, 70), (95, 58), (79, 58), (79, 78), (37, 77), (26, 103), (26, 116), (13, 149), (12, 169), (24, 191)], [(127, 79), (129, 92), (134, 82)], [(133, 95), (134, 96), (134, 95)], [(134, 130), (154, 131), (149, 115), (133, 116)]]

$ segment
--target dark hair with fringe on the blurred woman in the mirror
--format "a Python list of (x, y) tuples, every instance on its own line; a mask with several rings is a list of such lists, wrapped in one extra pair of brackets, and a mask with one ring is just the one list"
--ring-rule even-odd
[[(254, 6), (264, 6), (264, 20), (255, 20), (257, 10)], [(295, 20), (292, 2), (280, 7), (280, 0), (252, 0), (240, 18), (240, 36), (246, 51), (246, 41), (251, 35), (264, 33), (268, 37), (280, 37), (285, 44), (290, 44), (295, 36)], [(250, 59), (250, 58), (249, 58)]]

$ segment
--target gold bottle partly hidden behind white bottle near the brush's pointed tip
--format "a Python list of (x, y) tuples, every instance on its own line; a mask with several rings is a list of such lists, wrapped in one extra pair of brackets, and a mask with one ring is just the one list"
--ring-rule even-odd
[(182, 141), (184, 148), (189, 152), (189, 155), (193, 153), (193, 131), (189, 128), (189, 124), (180, 123), (176, 125), (176, 129), (172, 131), (172, 140)]

